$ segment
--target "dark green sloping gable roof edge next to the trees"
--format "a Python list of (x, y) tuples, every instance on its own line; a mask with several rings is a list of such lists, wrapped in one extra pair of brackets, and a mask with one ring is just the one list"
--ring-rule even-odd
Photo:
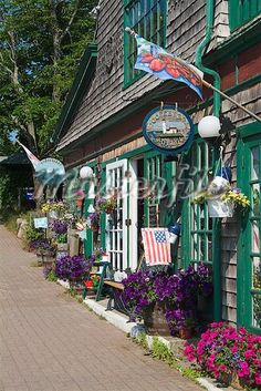
[(58, 143), (59, 140), (61, 140), (61, 137), (64, 136), (69, 131), (70, 124), (93, 79), (96, 66), (96, 59), (97, 45), (95, 43), (90, 43), (82, 56), (77, 73), (73, 81), (73, 85), (63, 105), (61, 115), (51, 140), (53, 143)]

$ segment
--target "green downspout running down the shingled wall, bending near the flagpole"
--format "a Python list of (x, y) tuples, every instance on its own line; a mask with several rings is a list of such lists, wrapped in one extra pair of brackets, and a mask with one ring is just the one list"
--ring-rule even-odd
[[(206, 68), (202, 64), (202, 55), (213, 33), (213, 17), (215, 17), (216, 0), (206, 0), (206, 35), (196, 50), (196, 66), (213, 79), (213, 86), (220, 90), (221, 79), (218, 72)], [(218, 92), (213, 92), (213, 115), (219, 117), (221, 109), (221, 96)], [(213, 164), (216, 168), (218, 164), (218, 151), (213, 151)], [(220, 220), (213, 219), (212, 224), (212, 274), (213, 274), (213, 318), (219, 321), (222, 317), (221, 311), (221, 254), (220, 254)]]

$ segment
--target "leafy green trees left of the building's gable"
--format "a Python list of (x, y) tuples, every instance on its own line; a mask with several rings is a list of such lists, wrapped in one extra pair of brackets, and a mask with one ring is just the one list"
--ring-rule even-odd
[[(8, 134), (40, 158), (79, 60), (92, 41), (96, 0), (0, 0), (0, 138)], [(4, 146), (6, 145), (6, 146)]]

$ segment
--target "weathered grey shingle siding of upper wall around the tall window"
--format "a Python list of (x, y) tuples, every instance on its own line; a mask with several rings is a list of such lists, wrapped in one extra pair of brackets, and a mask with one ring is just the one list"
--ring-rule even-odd
[[(167, 50), (169, 52), (175, 52), (188, 61), (195, 60), (196, 48), (205, 37), (205, 0), (169, 1), (167, 14)], [(213, 39), (213, 42), (228, 34), (228, 31), (220, 30), (226, 19), (226, 3), (227, 1), (217, 0), (215, 24), (218, 37)], [(126, 107), (136, 97), (161, 84), (161, 81), (156, 78), (145, 75), (128, 89), (123, 90), (123, 11), (122, 0), (101, 2), (96, 39), (98, 45), (96, 75), (67, 134), (61, 141), (60, 147), (77, 140)], [(112, 70), (108, 73), (109, 66)]]

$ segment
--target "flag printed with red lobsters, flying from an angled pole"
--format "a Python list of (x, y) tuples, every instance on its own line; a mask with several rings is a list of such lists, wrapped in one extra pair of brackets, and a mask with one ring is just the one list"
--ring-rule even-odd
[(137, 41), (135, 69), (152, 73), (158, 79), (184, 82), (202, 99), (203, 73), (200, 70), (140, 35), (134, 37)]

